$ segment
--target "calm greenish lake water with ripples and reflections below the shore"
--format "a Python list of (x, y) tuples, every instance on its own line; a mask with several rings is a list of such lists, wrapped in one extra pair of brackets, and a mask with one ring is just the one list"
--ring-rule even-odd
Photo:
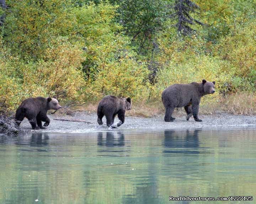
[(0, 136), (0, 182), (1, 204), (256, 203), (256, 129)]

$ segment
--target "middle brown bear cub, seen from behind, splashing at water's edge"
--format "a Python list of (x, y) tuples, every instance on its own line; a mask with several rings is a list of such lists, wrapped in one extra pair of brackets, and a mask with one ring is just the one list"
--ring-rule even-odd
[(132, 107), (131, 99), (125, 97), (105, 96), (102, 98), (97, 108), (98, 124), (102, 125), (102, 118), (105, 115), (107, 119), (107, 126), (116, 128), (113, 126), (114, 118), (116, 115), (119, 118), (117, 126), (119, 127), (124, 123), (125, 112)]

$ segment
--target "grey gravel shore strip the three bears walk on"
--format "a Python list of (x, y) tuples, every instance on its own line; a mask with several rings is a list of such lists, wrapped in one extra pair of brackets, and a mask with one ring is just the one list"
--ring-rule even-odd
[[(61, 114), (48, 114), (51, 122), (47, 129), (44, 130), (32, 130), (30, 123), (27, 119), (24, 119), (21, 123), (21, 129), (26, 132), (91, 132), (91, 131), (106, 131), (106, 119), (103, 118), (103, 125), (98, 125), (97, 114), (87, 112), (76, 112), (73, 115), (61, 115)], [(166, 123), (164, 121), (164, 115), (159, 115), (151, 118), (126, 116), (123, 125), (113, 130), (122, 129), (218, 129), (218, 128), (239, 128), (245, 126), (255, 126), (256, 128), (256, 117), (246, 115), (233, 115), (229, 113), (214, 113), (209, 115), (200, 115), (199, 118), (202, 122), (194, 121), (193, 117), (189, 121), (186, 120), (185, 113), (182, 116), (176, 117), (174, 122)], [(87, 124), (84, 122), (73, 122), (73, 121), (61, 121), (54, 119), (65, 119), (65, 120), (84, 120), (94, 124)], [(117, 124), (118, 118), (116, 117), (115, 123)]]

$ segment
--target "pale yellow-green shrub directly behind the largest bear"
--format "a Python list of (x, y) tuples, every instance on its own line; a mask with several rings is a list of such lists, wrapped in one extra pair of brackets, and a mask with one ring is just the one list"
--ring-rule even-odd
[(162, 91), (172, 84), (188, 84), (206, 79), (207, 81), (216, 81), (216, 93), (207, 97), (208, 100), (213, 97), (217, 98), (220, 87), (231, 79), (229, 73), (223, 72), (224, 66), (222, 61), (208, 55), (200, 55), (182, 63), (175, 63), (174, 59), (166, 64), (164, 69), (159, 70), (152, 95), (154, 98), (161, 98)]

